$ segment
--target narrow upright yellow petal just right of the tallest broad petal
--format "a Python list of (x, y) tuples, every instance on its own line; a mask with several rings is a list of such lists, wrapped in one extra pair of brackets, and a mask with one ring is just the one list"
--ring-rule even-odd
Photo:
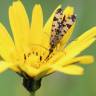
[(43, 33), (43, 12), (39, 4), (36, 4), (32, 12), (32, 24), (30, 41), (31, 44), (41, 45)]

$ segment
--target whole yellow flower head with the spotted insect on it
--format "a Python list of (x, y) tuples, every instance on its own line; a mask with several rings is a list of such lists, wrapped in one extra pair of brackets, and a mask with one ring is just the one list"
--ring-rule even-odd
[(44, 25), (42, 8), (36, 4), (30, 25), (25, 8), (18, 0), (9, 8), (9, 21), (13, 39), (0, 23), (0, 72), (8, 68), (15, 71), (24, 78), (27, 87), (26, 80), (38, 81), (55, 71), (81, 75), (83, 68), (78, 63), (94, 61), (93, 56), (78, 55), (96, 40), (96, 27), (67, 45), (76, 23), (73, 7), (63, 11), (58, 6)]

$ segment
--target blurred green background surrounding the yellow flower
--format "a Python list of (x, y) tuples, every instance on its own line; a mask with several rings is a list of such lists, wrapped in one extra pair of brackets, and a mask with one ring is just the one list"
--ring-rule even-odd
[[(15, 0), (14, 0), (15, 1)], [(8, 8), (13, 0), (0, 0), (0, 22), (11, 32), (8, 21)], [(96, 25), (96, 0), (22, 0), (29, 18), (31, 10), (36, 3), (43, 7), (44, 21), (46, 22), (52, 11), (58, 4), (74, 6), (77, 14), (77, 24), (71, 40)], [(82, 54), (96, 56), (96, 44)], [(36, 96), (96, 96), (96, 63), (84, 66), (83, 76), (70, 76), (62, 73), (54, 73), (43, 78), (41, 88)], [(8, 70), (0, 74), (0, 96), (29, 96), (22, 86), (22, 78)]]

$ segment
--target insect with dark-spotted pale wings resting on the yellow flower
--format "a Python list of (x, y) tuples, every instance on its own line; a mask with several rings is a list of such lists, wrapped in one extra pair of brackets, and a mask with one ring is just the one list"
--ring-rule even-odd
[(51, 38), (50, 38), (50, 53), (53, 52), (53, 49), (64, 37), (67, 31), (71, 28), (73, 23), (76, 21), (76, 16), (73, 14), (71, 16), (63, 15), (63, 11), (59, 8), (53, 18), (53, 24), (51, 29)]

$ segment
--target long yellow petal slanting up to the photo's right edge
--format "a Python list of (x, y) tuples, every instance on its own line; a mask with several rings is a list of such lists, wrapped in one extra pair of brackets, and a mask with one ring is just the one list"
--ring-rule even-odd
[[(87, 37), (85, 34), (87, 35)], [(52, 66), (66, 65), (68, 61), (70, 61), (75, 56), (79, 55), (84, 49), (88, 48), (96, 40), (95, 36), (96, 36), (96, 27), (85, 32), (83, 34), (83, 37), (81, 35), (79, 38), (82, 37), (82, 39), (77, 38), (75, 41), (70, 43), (64, 49), (64, 53), (65, 53), (64, 56), (62, 56), (61, 59), (59, 59), (57, 62), (52, 64)]]

